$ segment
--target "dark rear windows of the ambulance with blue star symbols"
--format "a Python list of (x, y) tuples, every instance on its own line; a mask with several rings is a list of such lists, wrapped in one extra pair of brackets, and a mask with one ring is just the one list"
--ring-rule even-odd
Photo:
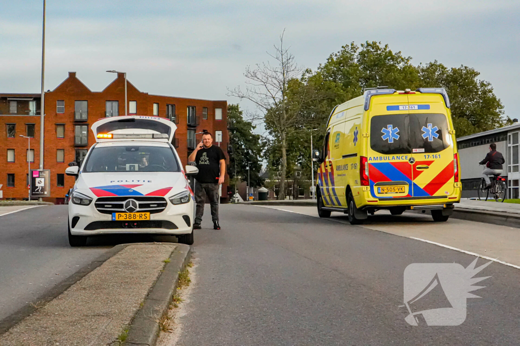
[(388, 114), (371, 119), (370, 146), (385, 155), (438, 153), (450, 146), (444, 114)]

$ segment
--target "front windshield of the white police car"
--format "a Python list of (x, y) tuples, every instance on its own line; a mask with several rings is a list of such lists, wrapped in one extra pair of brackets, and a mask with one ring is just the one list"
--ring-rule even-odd
[(180, 172), (180, 169), (169, 147), (113, 146), (92, 149), (83, 172)]

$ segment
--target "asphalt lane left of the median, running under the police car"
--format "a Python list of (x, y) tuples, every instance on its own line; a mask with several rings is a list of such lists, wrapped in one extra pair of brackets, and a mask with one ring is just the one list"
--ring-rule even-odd
[(89, 238), (89, 246), (71, 247), (67, 205), (0, 216), (0, 321), (36, 303), (38, 297), (114, 245), (151, 240), (154, 238), (146, 236), (96, 237)]

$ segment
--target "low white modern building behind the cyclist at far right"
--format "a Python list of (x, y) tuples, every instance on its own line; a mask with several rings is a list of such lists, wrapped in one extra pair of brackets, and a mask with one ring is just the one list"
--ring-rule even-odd
[(475, 133), (457, 139), (460, 157), (462, 197), (477, 197), (477, 189), (484, 167), (478, 165), (489, 151), (489, 144), (496, 143), (505, 159), (502, 176), (508, 179), (508, 197), (519, 198), (520, 181), (520, 123), (500, 129)]

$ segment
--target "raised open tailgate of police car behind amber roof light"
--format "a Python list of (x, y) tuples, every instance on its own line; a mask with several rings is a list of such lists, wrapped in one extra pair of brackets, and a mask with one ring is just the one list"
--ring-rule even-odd
[(92, 124), (96, 142), (145, 140), (172, 142), (177, 126), (160, 117), (140, 115), (103, 118)]

